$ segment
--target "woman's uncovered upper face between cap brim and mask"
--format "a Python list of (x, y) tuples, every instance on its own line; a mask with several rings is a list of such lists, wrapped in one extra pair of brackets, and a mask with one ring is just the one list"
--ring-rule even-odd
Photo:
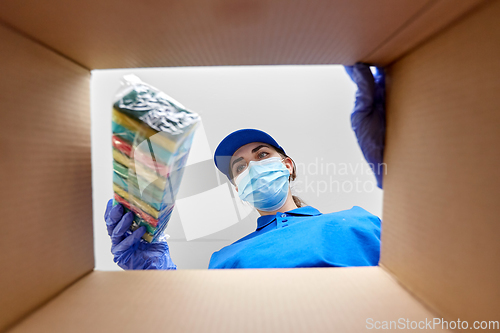
[[(234, 152), (231, 160), (229, 161), (229, 168), (232, 171), (233, 176), (233, 184), (235, 183), (235, 179), (246, 170), (248, 163), (250, 161), (261, 161), (270, 157), (280, 157), (274, 148), (263, 142), (252, 142), (248, 143), (244, 146), (241, 146), (237, 151)], [(293, 164), (290, 158), (286, 158), (283, 160), (287, 169), (292, 173)], [(235, 184), (236, 185), (236, 184)], [(236, 191), (238, 191), (238, 186), (236, 185)]]

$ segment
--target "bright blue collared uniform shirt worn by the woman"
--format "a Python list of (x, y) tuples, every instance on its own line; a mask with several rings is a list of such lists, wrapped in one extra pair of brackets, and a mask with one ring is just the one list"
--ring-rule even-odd
[(361, 207), (305, 206), (257, 219), (257, 230), (214, 252), (208, 268), (376, 266), (381, 220)]

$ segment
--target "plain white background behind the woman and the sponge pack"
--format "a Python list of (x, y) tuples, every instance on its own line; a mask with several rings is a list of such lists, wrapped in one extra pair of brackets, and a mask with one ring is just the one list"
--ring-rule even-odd
[[(237, 129), (257, 128), (273, 136), (294, 159), (298, 169), (297, 179), (292, 183), (293, 193), (307, 204), (322, 213), (360, 206), (382, 218), (383, 192), (376, 187), (350, 124), (356, 86), (342, 66), (94, 70), (91, 112), (96, 269), (120, 269), (110, 253), (103, 216), (106, 202), (113, 195), (111, 109), (125, 74), (137, 75), (202, 118), (188, 165), (204, 168), (204, 174), (212, 176), (199, 179), (185, 174), (179, 193), (201, 193), (212, 181), (208, 178), (222, 184), (225, 176), (211, 171), (217, 144)], [(255, 230), (259, 217), (256, 211), (246, 215), (240, 210), (240, 218), (229, 224), (224, 222), (230, 218), (228, 214), (238, 215), (210, 202), (224, 201), (222, 196), (218, 197), (222, 189), (205, 192), (209, 195), (201, 193), (197, 204), (178, 201), (166, 233), (170, 235), (172, 259), (179, 269), (206, 269), (213, 252)], [(190, 214), (182, 211), (186, 207), (191, 208)], [(207, 234), (212, 226), (225, 228), (203, 237), (194, 234), (196, 230)]]

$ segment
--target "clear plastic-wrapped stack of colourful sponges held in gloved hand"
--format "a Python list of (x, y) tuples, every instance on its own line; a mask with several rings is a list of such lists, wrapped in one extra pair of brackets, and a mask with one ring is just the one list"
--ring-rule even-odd
[(162, 237), (200, 117), (135, 75), (122, 79), (112, 114), (114, 204), (134, 213), (131, 229)]

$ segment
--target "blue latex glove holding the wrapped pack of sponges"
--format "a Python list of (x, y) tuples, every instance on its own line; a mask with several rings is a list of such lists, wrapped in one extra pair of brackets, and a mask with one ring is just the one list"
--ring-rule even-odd
[(134, 215), (123, 215), (123, 206), (113, 207), (113, 199), (108, 201), (104, 220), (111, 237), (111, 253), (114, 262), (123, 269), (177, 269), (170, 258), (167, 242), (148, 243), (141, 239), (146, 232), (144, 226), (130, 232)]

